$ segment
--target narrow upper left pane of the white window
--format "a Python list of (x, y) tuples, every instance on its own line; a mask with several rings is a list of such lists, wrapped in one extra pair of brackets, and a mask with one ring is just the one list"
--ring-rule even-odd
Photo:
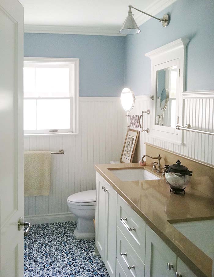
[(36, 69), (24, 67), (24, 97), (36, 96)]

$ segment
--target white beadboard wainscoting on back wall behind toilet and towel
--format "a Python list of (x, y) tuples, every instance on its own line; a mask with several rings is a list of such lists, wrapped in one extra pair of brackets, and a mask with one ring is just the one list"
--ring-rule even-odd
[(75, 220), (68, 210), (67, 197), (95, 189), (94, 164), (120, 159), (124, 118), (118, 97), (80, 97), (78, 134), (24, 137), (25, 151), (65, 151), (51, 155), (50, 195), (25, 197), (25, 220), (33, 224)]

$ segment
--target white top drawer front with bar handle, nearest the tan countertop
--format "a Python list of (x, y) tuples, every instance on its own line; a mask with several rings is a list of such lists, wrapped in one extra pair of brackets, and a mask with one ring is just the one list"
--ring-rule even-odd
[[(117, 226), (145, 263), (146, 223), (120, 195), (117, 197)], [(133, 228), (135, 229), (132, 230)]]

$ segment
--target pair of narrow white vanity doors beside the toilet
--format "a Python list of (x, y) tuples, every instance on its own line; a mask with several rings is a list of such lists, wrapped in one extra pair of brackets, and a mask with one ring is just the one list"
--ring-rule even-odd
[(110, 277), (116, 276), (116, 191), (97, 173), (95, 243)]

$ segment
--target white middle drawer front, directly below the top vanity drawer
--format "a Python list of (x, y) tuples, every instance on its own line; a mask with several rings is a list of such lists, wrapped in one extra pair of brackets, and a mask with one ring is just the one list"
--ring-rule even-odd
[[(123, 255), (121, 255), (123, 254)], [(127, 277), (144, 276), (145, 265), (117, 227), (117, 259)]]

